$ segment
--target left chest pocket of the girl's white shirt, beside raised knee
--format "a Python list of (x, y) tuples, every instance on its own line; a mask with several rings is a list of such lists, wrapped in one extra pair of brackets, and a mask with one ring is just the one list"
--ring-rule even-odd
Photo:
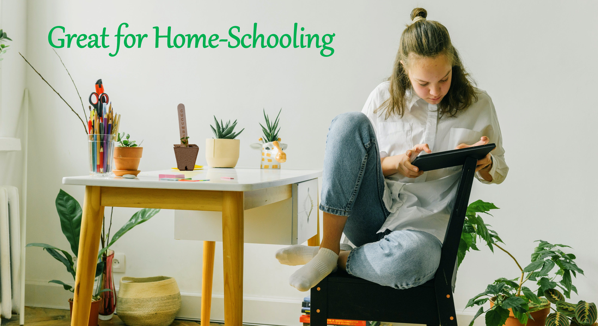
[(380, 152), (389, 156), (404, 154), (413, 147), (411, 124), (408, 122), (378, 122), (376, 135)]

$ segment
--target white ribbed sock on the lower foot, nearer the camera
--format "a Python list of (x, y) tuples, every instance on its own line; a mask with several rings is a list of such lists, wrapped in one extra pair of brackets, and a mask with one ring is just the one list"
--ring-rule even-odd
[(289, 284), (299, 291), (307, 291), (318, 284), (337, 267), (338, 255), (321, 248), (313, 259), (289, 277)]

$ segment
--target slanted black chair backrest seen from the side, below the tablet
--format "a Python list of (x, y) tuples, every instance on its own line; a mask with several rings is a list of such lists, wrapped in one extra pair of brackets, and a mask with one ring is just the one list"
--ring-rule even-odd
[(434, 276), (436, 286), (440, 284), (452, 285), (453, 274), (456, 273), (457, 251), (463, 230), (463, 222), (465, 222), (469, 194), (471, 193), (471, 186), (474, 181), (476, 163), (477, 159), (467, 158), (465, 164), (463, 164), (461, 179), (454, 198), (453, 210), (449, 218), (449, 225), (444, 235), (440, 265), (438, 265)]

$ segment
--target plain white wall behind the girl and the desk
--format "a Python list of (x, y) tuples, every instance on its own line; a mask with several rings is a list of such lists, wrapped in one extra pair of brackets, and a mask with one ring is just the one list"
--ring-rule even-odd
[[(153, 36), (142, 48), (121, 46), (116, 57), (108, 56), (114, 53), (112, 37), (106, 50), (57, 49), (84, 104), (96, 79), (103, 79), (122, 114), (122, 130), (144, 140), (141, 170), (175, 166), (170, 148), (178, 142), (178, 103), (187, 107), (191, 141), (200, 153), (203, 139), (212, 137), (212, 115), (239, 119), (239, 126), (246, 128), (240, 136), (240, 166), (255, 164), (256, 152), (248, 145), (261, 136), (261, 110), (273, 114), (282, 107), (280, 137), (289, 143), (285, 167), (321, 168), (329, 122), (338, 113), (361, 110), (370, 91), (388, 77), (399, 36), (416, 6), (449, 29), (479, 87), (492, 96), (501, 122), (509, 176), (498, 186), (475, 184), (472, 201), (484, 199), (501, 207), (487, 223), (522, 264), (529, 262), (536, 239), (574, 247), (587, 276), (574, 281), (579, 299), (598, 301), (598, 223), (592, 207), (598, 23), (591, 14), (598, 10), (596, 2), (103, 1), (98, 6), (90, 1), (29, 1), (28, 60), (81, 112), (71, 81), (47, 42), (48, 31), (56, 25), (65, 26), (66, 33), (100, 33), (107, 27), (114, 35), (118, 24), (126, 22), (127, 33), (133, 34), (152, 35), (153, 26), (164, 33), (172, 26), (173, 35), (226, 35), (234, 25), (251, 33), (257, 22), (259, 32), (280, 35), (292, 33), (297, 22), (306, 33), (334, 32), (335, 53), (328, 58), (315, 49), (169, 49), (163, 43), (156, 49)], [(61, 184), (63, 176), (87, 173), (83, 127), (29, 68), (27, 87), (32, 111), (28, 241), (68, 248), (54, 198), (62, 188), (83, 201), (83, 187)], [(200, 155), (198, 164), (203, 162)], [(115, 208), (115, 226), (134, 211)], [(245, 246), (245, 295), (251, 302), (295, 305), (306, 295), (288, 285), (296, 267), (277, 263), (273, 253), (278, 248)], [(126, 275), (169, 275), (190, 296), (201, 292), (202, 243), (173, 239), (173, 211), (164, 210), (136, 227), (114, 250), (127, 255)], [(38, 248), (29, 248), (27, 257), (29, 293), (50, 279), (69, 280), (64, 267)], [(223, 292), (221, 262), (217, 246), (216, 296)], [(484, 249), (468, 254), (457, 279), (457, 310), (493, 279), (515, 278), (517, 272), (504, 253), (492, 255)], [(38, 299), (36, 304), (50, 305), (44, 303), (50, 299)], [(265, 310), (262, 315), (276, 313)], [(254, 322), (296, 325), (297, 317), (298, 308), (296, 315)]]

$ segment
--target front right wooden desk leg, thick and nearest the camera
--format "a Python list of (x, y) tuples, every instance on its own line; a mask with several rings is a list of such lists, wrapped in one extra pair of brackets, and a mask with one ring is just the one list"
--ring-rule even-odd
[(243, 192), (222, 192), (224, 325), (243, 324)]

